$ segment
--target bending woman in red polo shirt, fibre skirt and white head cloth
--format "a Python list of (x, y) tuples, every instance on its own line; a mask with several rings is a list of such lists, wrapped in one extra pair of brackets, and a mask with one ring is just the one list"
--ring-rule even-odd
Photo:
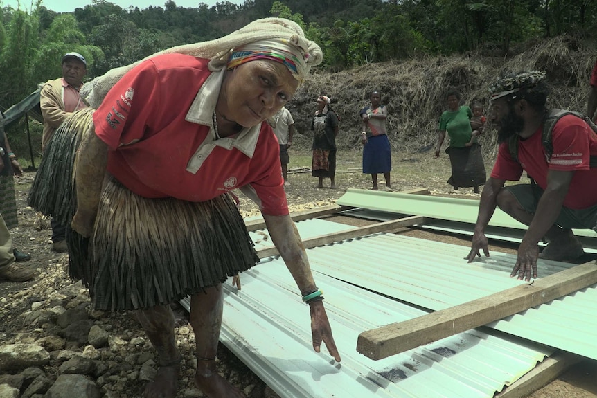
[[(322, 293), (288, 215), (279, 146), (262, 123), (320, 62), (321, 49), (298, 25), (262, 19), (222, 39), (111, 71), (87, 87), (97, 110), (73, 116), (87, 118), (89, 133), (82, 134), (76, 163), (70, 270), (89, 286), (97, 309), (137, 311), (160, 365), (144, 397), (177, 394), (181, 355), (169, 304), (187, 295), (197, 387), (208, 397), (243, 396), (215, 370), (221, 284), (258, 262), (228, 193), (235, 188), (260, 206), (310, 306), (314, 350), (323, 341), (340, 361)], [(69, 136), (69, 126), (62, 129), (55, 147)]]

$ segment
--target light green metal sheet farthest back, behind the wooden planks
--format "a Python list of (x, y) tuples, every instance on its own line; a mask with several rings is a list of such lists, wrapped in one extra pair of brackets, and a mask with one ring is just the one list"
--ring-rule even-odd
[[(401, 215), (420, 215), (467, 224), (476, 223), (476, 215), (479, 210), (479, 201), (476, 200), (434, 197), (431, 195), (409, 195), (399, 192), (357, 190), (353, 188), (349, 188), (346, 194), (337, 200), (337, 204), (382, 212), (393, 212)], [(499, 208), (495, 209), (490, 226), (519, 230), (526, 230), (527, 228), (524, 224), (516, 221)], [(574, 233), (581, 237), (597, 237), (596, 233), (591, 230), (575, 229)], [(594, 240), (592, 239), (593, 242)]]

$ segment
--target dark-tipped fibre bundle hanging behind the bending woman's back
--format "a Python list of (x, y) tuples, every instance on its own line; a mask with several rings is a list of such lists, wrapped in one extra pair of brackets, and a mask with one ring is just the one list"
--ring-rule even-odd
[(93, 127), (93, 111), (74, 112), (54, 132), (29, 191), (28, 205), (62, 225), (70, 224), (77, 204), (73, 169), (82, 137)]

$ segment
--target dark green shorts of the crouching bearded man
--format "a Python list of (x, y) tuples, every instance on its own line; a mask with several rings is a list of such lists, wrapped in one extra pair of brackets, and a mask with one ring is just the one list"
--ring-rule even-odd
[[(515, 186), (504, 187), (508, 190), (520, 206), (528, 213), (535, 214), (537, 211), (537, 203), (543, 190), (537, 184), (519, 184)], [(558, 219), (555, 220), (555, 225), (562, 228), (576, 228), (576, 229), (592, 229), (597, 224), (597, 205), (583, 209), (571, 209), (562, 206)]]

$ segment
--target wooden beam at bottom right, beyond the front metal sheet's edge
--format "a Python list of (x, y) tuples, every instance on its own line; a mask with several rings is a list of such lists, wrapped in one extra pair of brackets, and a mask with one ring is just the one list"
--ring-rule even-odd
[(539, 390), (547, 383), (566, 372), (572, 365), (579, 363), (581, 356), (559, 351), (546, 358), (542, 363), (523, 377), (501, 390), (494, 398), (519, 398), (526, 397)]

